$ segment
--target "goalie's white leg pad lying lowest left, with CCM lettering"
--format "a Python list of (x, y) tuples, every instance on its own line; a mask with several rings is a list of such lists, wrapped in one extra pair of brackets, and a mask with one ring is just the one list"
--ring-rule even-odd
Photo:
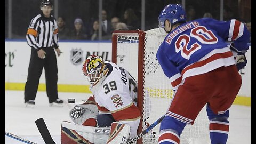
[(61, 143), (95, 143), (105, 144), (110, 134), (110, 128), (83, 126), (63, 121), (61, 123)]

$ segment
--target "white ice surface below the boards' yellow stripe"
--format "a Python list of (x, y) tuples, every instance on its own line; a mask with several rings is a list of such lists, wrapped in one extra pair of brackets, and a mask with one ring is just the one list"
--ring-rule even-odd
[[(44, 144), (35, 121), (43, 118), (53, 140), (60, 143), (60, 127), (62, 121), (70, 121), (68, 115), (71, 104), (70, 98), (76, 102), (86, 100), (90, 93), (59, 92), (59, 98), (66, 103), (64, 107), (49, 107), (46, 92), (38, 91), (35, 107), (27, 108), (24, 104), (24, 91), (5, 91), (5, 131), (18, 135), (24, 139)], [(251, 107), (233, 105), (230, 108), (229, 137), (227, 144), (251, 143)], [(6, 144), (23, 143), (5, 136)]]

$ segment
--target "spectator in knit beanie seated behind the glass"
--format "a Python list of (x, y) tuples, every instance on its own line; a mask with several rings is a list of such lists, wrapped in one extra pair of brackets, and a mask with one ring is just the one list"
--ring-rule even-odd
[(88, 39), (88, 35), (84, 32), (83, 21), (80, 18), (76, 18), (74, 21), (74, 29), (71, 31), (71, 39), (85, 40)]

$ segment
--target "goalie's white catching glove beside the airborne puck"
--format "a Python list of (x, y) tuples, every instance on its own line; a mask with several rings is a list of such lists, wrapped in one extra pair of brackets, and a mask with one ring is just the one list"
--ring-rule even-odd
[(76, 104), (69, 111), (69, 116), (75, 124), (86, 126), (97, 126), (95, 120), (98, 115), (98, 108), (93, 97), (90, 97), (86, 102)]

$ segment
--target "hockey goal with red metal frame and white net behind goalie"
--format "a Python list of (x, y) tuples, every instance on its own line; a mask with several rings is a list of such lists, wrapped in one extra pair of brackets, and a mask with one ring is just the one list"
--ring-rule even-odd
[[(156, 59), (158, 46), (165, 36), (166, 33), (159, 28), (148, 31), (114, 30), (112, 34), (112, 62), (127, 69), (138, 82), (137, 107), (142, 119), (137, 134), (164, 115), (172, 99), (171, 83)], [(205, 109), (198, 114), (194, 125), (186, 125), (180, 135), (181, 144), (210, 143)], [(159, 125), (137, 143), (158, 143)]]

